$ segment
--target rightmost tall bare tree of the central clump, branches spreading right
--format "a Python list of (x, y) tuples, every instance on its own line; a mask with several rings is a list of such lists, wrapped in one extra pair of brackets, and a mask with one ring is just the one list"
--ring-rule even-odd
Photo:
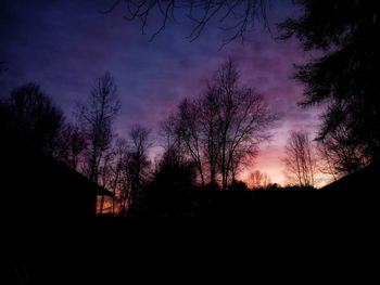
[(269, 139), (267, 128), (276, 117), (259, 94), (239, 86), (239, 73), (231, 60), (217, 70), (213, 83), (219, 105), (219, 168), (226, 189), (232, 168), (238, 169), (241, 161), (237, 158), (256, 153), (258, 144)]

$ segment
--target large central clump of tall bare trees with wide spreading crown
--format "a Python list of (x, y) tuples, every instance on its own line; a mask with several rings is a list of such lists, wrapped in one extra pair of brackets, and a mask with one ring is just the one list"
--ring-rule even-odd
[(220, 173), (227, 189), (243, 160), (254, 157), (258, 144), (269, 138), (267, 128), (274, 119), (259, 94), (239, 86), (239, 73), (228, 61), (203, 95), (181, 102), (165, 121), (164, 133), (182, 156), (191, 158), (202, 185), (208, 168), (210, 183), (215, 184)]

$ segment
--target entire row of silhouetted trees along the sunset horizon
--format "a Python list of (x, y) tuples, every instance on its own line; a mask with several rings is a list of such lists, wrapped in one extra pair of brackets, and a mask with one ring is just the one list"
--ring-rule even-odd
[[(203, 93), (178, 104), (161, 124), (159, 141), (139, 125), (128, 133), (115, 133), (118, 98), (114, 78), (104, 73), (68, 120), (38, 85), (27, 83), (0, 102), (0, 131), (4, 139), (34, 145), (111, 191), (114, 198), (101, 197), (99, 213), (124, 216), (149, 209), (159, 216), (183, 216), (189, 207), (198, 209), (199, 200), (207, 204), (215, 190), (306, 190), (317, 185), (318, 173), (338, 179), (353, 171), (342, 168), (346, 156), (335, 155), (346, 154), (346, 148), (330, 150), (324, 140), (315, 142), (307, 131), (295, 130), (282, 157), (289, 186), (270, 183), (258, 170), (249, 174), (246, 183), (239, 181), (259, 144), (270, 138), (277, 116), (261, 94), (240, 83), (232, 61), (218, 67)], [(163, 151), (154, 163), (153, 145)]]

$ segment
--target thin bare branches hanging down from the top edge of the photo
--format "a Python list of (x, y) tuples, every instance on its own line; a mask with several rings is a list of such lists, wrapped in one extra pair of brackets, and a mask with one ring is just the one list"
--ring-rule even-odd
[[(267, 26), (266, 0), (246, 1), (210, 1), (210, 0), (115, 0), (103, 13), (110, 13), (116, 8), (125, 5), (124, 18), (127, 21), (139, 20), (142, 24), (142, 34), (145, 34), (148, 22), (152, 17), (161, 18), (161, 24), (152, 35), (152, 39), (163, 31), (167, 24), (176, 21), (175, 13), (185, 13), (193, 23), (188, 38), (192, 41), (197, 39), (213, 20), (217, 20), (224, 30), (229, 30), (231, 35), (225, 39), (225, 43), (235, 39), (244, 39), (245, 33), (254, 26), (255, 21), (263, 22)], [(155, 16), (153, 16), (155, 15)], [(160, 23), (160, 20), (159, 20)]]

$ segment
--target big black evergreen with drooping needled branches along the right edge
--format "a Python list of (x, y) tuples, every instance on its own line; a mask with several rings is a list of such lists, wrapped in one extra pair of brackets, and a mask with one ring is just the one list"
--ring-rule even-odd
[(295, 79), (306, 86), (301, 105), (328, 105), (317, 140), (333, 154), (337, 171), (351, 172), (380, 155), (380, 129), (372, 127), (380, 125), (379, 8), (358, 0), (296, 2), (304, 13), (279, 25), (282, 38), (322, 51), (297, 67)]

